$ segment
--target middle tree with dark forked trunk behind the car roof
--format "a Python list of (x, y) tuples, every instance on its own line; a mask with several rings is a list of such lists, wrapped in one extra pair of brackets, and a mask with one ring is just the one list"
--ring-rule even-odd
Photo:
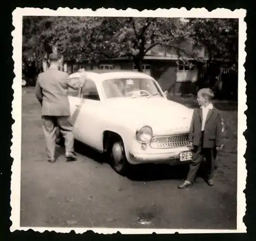
[(128, 56), (142, 71), (144, 56), (155, 46), (174, 48), (179, 53), (188, 34), (179, 19), (152, 17), (105, 17), (92, 29), (91, 52), (107, 58)]

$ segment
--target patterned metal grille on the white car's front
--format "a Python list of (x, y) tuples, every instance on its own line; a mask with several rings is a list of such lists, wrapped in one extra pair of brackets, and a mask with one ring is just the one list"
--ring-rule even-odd
[(191, 145), (191, 142), (188, 141), (188, 133), (185, 133), (170, 136), (153, 136), (150, 145), (152, 148), (176, 148)]

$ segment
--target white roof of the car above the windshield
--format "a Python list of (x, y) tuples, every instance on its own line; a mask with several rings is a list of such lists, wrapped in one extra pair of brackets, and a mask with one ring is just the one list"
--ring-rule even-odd
[(77, 78), (78, 75), (84, 75), (87, 78), (90, 78), (92, 80), (96, 81), (104, 81), (105, 79), (111, 79), (111, 78), (148, 78), (152, 79), (152, 77), (148, 74), (141, 73), (138, 71), (132, 71), (132, 70), (89, 70), (82, 73), (76, 72), (73, 74), (70, 74), (69, 77), (71, 78)]

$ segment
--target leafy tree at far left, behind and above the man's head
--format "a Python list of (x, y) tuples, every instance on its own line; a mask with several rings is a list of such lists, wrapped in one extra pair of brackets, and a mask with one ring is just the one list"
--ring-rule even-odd
[[(95, 17), (25, 16), (23, 18), (23, 74), (30, 66), (42, 68), (42, 61), (56, 47), (65, 59), (79, 61), (90, 53), (87, 43)], [(27, 77), (29, 78), (29, 77)]]

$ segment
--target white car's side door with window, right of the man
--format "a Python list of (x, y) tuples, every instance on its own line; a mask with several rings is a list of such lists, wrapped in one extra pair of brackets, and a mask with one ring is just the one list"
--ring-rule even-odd
[(73, 113), (77, 139), (97, 150), (102, 149), (101, 101), (94, 81), (86, 80), (81, 90), (80, 103)]

